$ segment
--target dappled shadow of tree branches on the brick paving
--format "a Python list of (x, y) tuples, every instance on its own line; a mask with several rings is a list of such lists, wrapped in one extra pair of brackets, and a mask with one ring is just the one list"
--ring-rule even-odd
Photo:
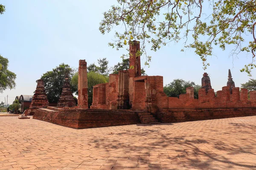
[[(218, 133), (227, 134), (227, 139), (230, 133), (239, 132), (244, 136), (251, 135), (251, 131), (256, 130), (254, 125), (229, 123), (232, 128), (227, 131), (212, 129), (213, 134), (210, 138), (193, 134), (177, 136), (172, 131), (163, 133), (163, 130), (169, 129), (165, 129), (163, 125), (173, 124), (139, 124), (137, 126), (142, 128), (120, 130), (120, 132), (106, 135), (104, 139), (91, 142), (108, 152), (105, 157), (121, 152), (119, 157), (128, 157), (128, 160), (137, 158), (138, 162), (148, 165), (151, 161), (159, 161), (160, 164), (164, 160), (195, 169), (236, 169), (238, 167), (256, 169), (256, 163), (253, 161), (256, 159), (256, 154), (253, 152), (255, 141), (250, 142), (240, 136), (239, 139), (234, 139), (234, 143), (225, 143), (225, 139), (214, 137), (214, 134)], [(152, 127), (155, 128), (152, 129)], [(239, 140), (241, 144), (237, 144), (236, 140)], [(151, 158), (152, 153), (158, 153), (158, 155), (153, 154)]]

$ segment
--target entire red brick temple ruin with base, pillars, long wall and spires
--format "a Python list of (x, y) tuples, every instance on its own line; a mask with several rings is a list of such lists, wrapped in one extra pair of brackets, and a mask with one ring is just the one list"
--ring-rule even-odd
[(235, 87), (228, 73), (227, 86), (215, 95), (207, 73), (201, 79), (198, 99), (194, 88), (186, 88), (186, 94), (168, 97), (163, 92), (162, 76), (141, 76), (140, 42), (130, 45), (130, 69), (110, 74), (109, 82), (93, 86), (93, 104), (88, 109), (87, 63), (79, 60), (78, 106), (71, 108), (39, 108), (34, 119), (52, 122), (76, 129), (184, 122), (204, 119), (220, 119), (256, 115), (256, 91)]

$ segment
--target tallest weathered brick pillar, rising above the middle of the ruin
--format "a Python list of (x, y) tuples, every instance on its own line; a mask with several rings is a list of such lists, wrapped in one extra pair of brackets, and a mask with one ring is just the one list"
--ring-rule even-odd
[(134, 97), (134, 77), (141, 76), (141, 67), (140, 67), (140, 42), (139, 41), (130, 41), (130, 69), (129, 69), (129, 102), (132, 106), (133, 97)]

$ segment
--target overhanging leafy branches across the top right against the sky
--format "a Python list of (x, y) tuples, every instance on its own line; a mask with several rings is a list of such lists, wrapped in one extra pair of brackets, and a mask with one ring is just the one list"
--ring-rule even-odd
[[(233, 45), (231, 55), (240, 51), (256, 51), (256, 0), (117, 0), (118, 5), (104, 13), (99, 30), (110, 32), (122, 25), (123, 32), (115, 31), (115, 42), (109, 45), (122, 48), (129, 40), (142, 42), (141, 53), (146, 64), (151, 60), (145, 46), (157, 51), (168, 42), (184, 39), (184, 48), (194, 48), (201, 57), (203, 68), (209, 66), (213, 46), (225, 50)], [(251, 36), (247, 36), (247, 35)], [(249, 42), (244, 37), (250, 38)], [(242, 43), (244, 42), (244, 43)], [(181, 49), (183, 51), (183, 49)], [(255, 64), (245, 65), (241, 71), (250, 75)]]

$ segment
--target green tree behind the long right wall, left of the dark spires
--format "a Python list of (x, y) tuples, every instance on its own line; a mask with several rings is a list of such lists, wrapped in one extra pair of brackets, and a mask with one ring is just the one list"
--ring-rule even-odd
[(185, 81), (183, 79), (174, 79), (163, 87), (163, 92), (168, 97), (179, 98), (180, 94), (186, 94), (186, 88), (188, 87), (194, 88), (194, 98), (198, 99), (198, 90), (201, 88), (201, 85), (196, 85), (195, 82)]

